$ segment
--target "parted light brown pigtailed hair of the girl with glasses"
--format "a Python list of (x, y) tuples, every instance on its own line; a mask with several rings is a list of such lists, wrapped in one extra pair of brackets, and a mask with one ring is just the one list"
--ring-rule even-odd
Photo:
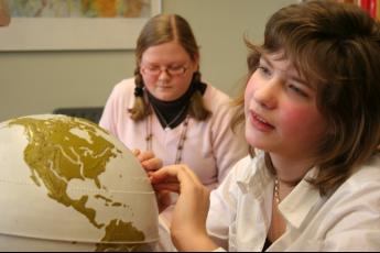
[[(172, 41), (178, 42), (192, 61), (199, 58), (199, 48), (188, 22), (177, 14), (158, 14), (148, 21), (137, 41), (134, 69), (134, 84), (137, 87), (141, 89), (144, 87), (140, 74), (140, 64), (143, 53), (151, 46)], [(202, 81), (199, 69), (194, 73), (192, 81)], [(132, 108), (128, 109), (128, 111), (130, 117), (135, 121), (142, 120), (151, 113), (148, 101), (143, 96), (135, 96), (134, 105)], [(205, 120), (210, 113), (211, 112), (204, 106), (203, 95), (199, 90), (195, 90), (191, 98), (188, 114), (197, 120)]]

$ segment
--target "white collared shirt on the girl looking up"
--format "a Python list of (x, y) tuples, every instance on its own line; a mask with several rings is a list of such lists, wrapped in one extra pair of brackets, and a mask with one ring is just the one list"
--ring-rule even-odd
[[(316, 172), (313, 168), (305, 178)], [(262, 251), (273, 186), (259, 152), (254, 158), (242, 158), (211, 193), (207, 229), (221, 248)], [(286, 231), (267, 251), (380, 251), (380, 156), (373, 156), (329, 197), (321, 197), (302, 180), (279, 209)]]

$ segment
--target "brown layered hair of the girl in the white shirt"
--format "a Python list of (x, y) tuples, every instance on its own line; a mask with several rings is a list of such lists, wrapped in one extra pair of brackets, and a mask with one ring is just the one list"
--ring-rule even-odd
[[(315, 155), (311, 184), (326, 195), (378, 152), (380, 143), (380, 25), (351, 3), (308, 1), (275, 12), (264, 43), (245, 38), (249, 73), (261, 54), (284, 52), (306, 81), (317, 87), (317, 108), (329, 129)], [(236, 100), (242, 109), (243, 97)], [(235, 122), (243, 114), (236, 116)], [(307, 130), (305, 130), (307, 131)]]

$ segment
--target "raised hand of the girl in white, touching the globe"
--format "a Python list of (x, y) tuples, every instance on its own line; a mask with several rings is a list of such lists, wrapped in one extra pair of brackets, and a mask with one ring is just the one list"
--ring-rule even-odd
[(154, 189), (178, 193), (171, 237), (180, 251), (211, 251), (217, 245), (206, 231), (209, 189), (186, 165), (171, 165), (149, 174)]

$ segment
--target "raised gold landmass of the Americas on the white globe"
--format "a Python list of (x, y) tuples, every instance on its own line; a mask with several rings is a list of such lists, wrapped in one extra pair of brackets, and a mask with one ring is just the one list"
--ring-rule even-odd
[[(86, 123), (84, 123), (86, 122)], [(107, 163), (121, 153), (120, 150), (104, 139), (98, 125), (76, 118), (53, 118), (47, 120), (35, 118), (19, 118), (10, 121), (9, 125), (22, 125), (29, 141), (24, 150), (25, 163), (30, 166), (31, 178), (37, 185), (42, 184), (48, 191), (48, 197), (73, 207), (84, 215), (93, 226), (101, 229), (105, 224), (96, 222), (96, 210), (86, 207), (88, 196), (79, 200), (67, 195), (69, 180), (93, 179), (100, 189), (99, 175), (106, 170)], [(72, 132), (78, 129), (88, 134), (80, 138)], [(97, 198), (106, 200), (107, 206), (121, 206), (101, 195)], [(143, 241), (144, 234), (138, 231), (130, 222), (112, 220), (105, 231), (105, 237), (99, 241)], [(122, 246), (122, 245), (120, 245)], [(101, 245), (98, 246), (100, 250)]]

